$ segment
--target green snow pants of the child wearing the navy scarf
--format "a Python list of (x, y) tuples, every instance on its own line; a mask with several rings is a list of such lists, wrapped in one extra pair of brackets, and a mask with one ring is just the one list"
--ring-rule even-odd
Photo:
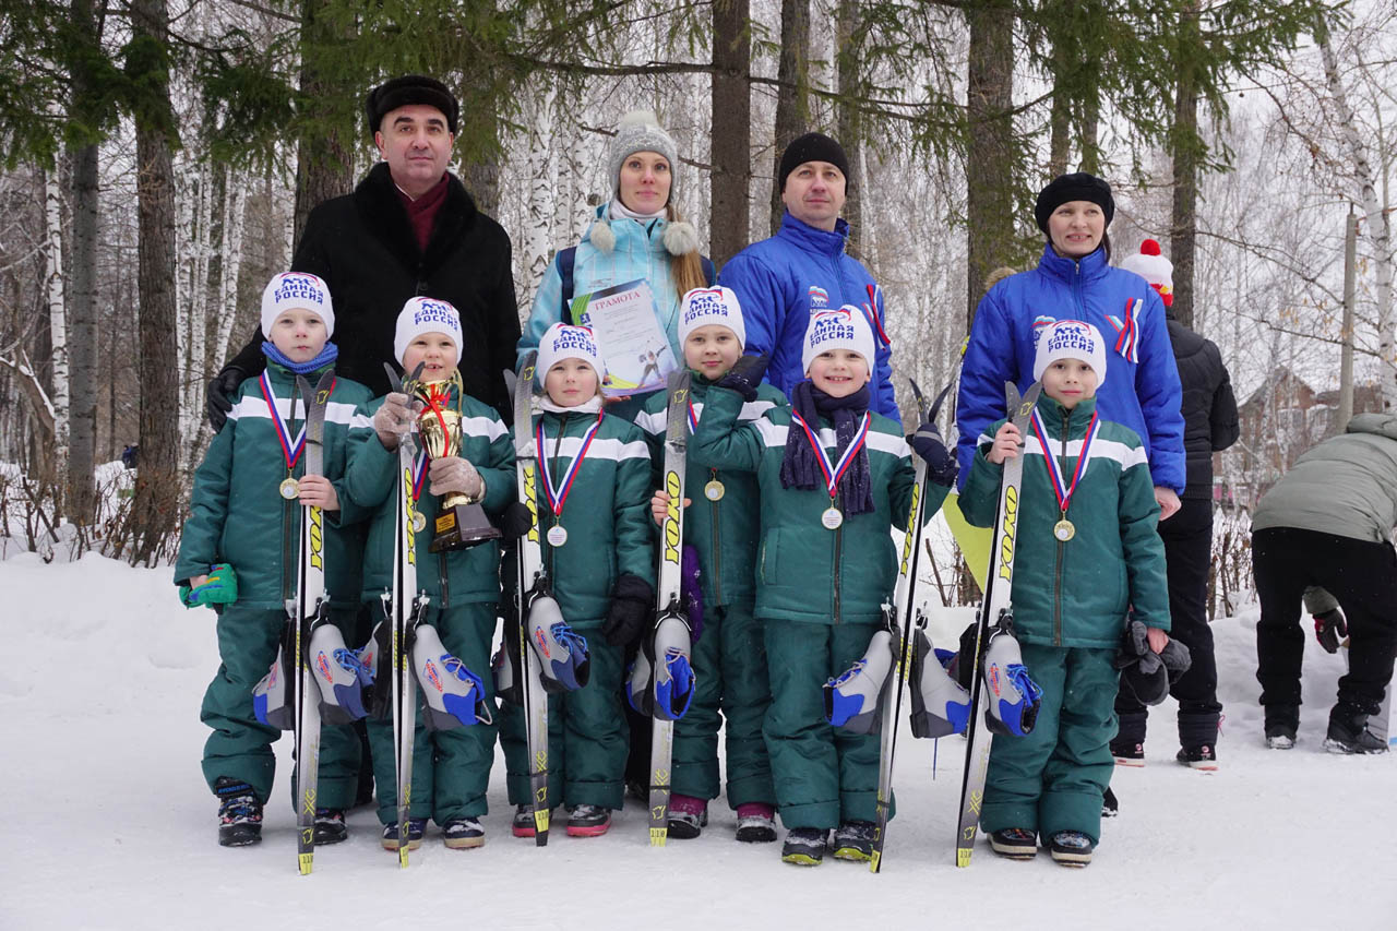
[(771, 707), (761, 732), (771, 753), (781, 823), (838, 828), (873, 821), (879, 738), (824, 720), (826, 679), (868, 651), (877, 625), (803, 623), (764, 618)]

